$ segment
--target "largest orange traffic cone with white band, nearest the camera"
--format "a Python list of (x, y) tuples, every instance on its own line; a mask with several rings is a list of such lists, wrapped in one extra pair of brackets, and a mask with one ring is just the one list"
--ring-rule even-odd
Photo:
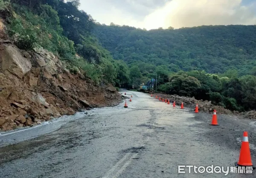
[[(249, 141), (248, 141), (248, 133), (244, 131), (241, 149), (240, 149), (240, 155), (239, 155), (239, 161), (235, 163), (236, 167), (252, 167), (252, 160), (250, 156), (250, 147), (249, 147)], [(253, 167), (255, 169), (255, 167)]]

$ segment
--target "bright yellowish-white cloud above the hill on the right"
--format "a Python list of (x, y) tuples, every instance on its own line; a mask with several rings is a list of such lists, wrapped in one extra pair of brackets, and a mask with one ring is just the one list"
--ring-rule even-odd
[(201, 25), (256, 24), (255, 3), (242, 6), (242, 0), (172, 0), (147, 15), (146, 29)]

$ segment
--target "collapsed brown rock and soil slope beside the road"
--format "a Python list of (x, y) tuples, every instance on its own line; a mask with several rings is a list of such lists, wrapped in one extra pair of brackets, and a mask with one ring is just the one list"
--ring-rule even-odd
[(0, 20), (0, 131), (121, 100), (113, 86), (96, 85), (83, 71), (72, 75), (45, 49), (17, 49)]

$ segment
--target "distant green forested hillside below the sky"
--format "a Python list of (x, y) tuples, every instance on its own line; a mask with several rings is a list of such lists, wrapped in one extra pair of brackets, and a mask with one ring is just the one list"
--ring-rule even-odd
[(98, 24), (94, 33), (113, 58), (129, 66), (145, 62), (166, 65), (171, 72), (238, 69), (250, 74), (256, 64), (256, 26), (198, 26), (146, 31)]

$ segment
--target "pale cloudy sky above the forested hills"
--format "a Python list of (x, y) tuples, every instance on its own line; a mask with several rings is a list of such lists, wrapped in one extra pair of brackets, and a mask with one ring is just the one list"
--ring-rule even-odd
[(96, 22), (136, 28), (255, 25), (256, 0), (80, 0)]

